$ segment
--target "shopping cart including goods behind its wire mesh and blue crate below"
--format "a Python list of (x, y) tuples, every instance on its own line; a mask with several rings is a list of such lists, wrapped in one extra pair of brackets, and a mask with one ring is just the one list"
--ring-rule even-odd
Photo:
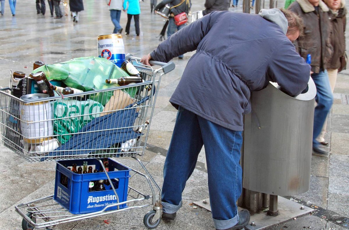
[[(23, 229), (49, 228), (147, 206), (153, 208), (144, 215), (144, 225), (153, 229), (160, 223), (161, 190), (138, 157), (146, 150), (161, 76), (172, 71), (174, 63), (151, 61), (161, 66), (153, 69), (131, 54), (125, 59), (140, 71), (143, 82), (31, 101), (10, 95), (9, 88), (0, 90), (3, 144), (29, 162), (56, 160), (54, 195), (15, 206), (23, 217)], [(145, 173), (121, 164), (118, 157), (135, 159)], [(107, 169), (103, 158), (109, 162)], [(83, 161), (97, 173), (76, 174), (67, 168)], [(150, 194), (128, 186), (130, 172), (149, 184)], [(105, 182), (104, 190), (92, 191), (91, 182), (100, 181)], [(84, 206), (84, 198), (89, 206)], [(152, 202), (147, 201), (150, 198)], [(102, 205), (102, 200), (109, 202)], [(93, 202), (97, 208), (90, 205)]]

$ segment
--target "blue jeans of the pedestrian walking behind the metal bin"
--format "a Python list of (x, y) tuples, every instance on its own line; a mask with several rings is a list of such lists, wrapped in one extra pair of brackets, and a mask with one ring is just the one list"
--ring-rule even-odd
[(315, 101), (317, 105), (314, 111), (314, 127), (313, 127), (313, 146), (319, 145), (316, 138), (321, 133), (322, 126), (325, 123), (328, 112), (330, 111), (333, 103), (333, 94), (331, 86), (329, 85), (327, 70), (320, 71), (319, 73), (311, 74), (316, 86)]

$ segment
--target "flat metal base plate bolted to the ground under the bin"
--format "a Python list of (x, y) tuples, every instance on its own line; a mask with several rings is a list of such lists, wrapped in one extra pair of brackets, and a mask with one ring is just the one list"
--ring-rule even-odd
[[(205, 203), (204, 203), (205, 201)], [(285, 221), (291, 220), (294, 217), (302, 216), (314, 209), (304, 206), (304, 209), (300, 209), (301, 204), (296, 203), (295, 201), (291, 201), (289, 199), (278, 197), (277, 209), (279, 211), (278, 216), (268, 216), (267, 212), (258, 212), (251, 216), (250, 223), (245, 227), (246, 230), (260, 230), (265, 229), (266, 227), (270, 227), (279, 223), (283, 223)], [(194, 202), (195, 205), (206, 209), (207, 211), (211, 211), (210, 207), (210, 199), (203, 199)], [(251, 226), (251, 222), (255, 223), (255, 226)]]

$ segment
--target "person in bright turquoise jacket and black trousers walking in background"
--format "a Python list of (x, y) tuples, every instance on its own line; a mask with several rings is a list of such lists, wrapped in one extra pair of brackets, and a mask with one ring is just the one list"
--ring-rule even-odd
[[(128, 3), (128, 7), (127, 7)], [(134, 18), (134, 27), (136, 28), (136, 35), (139, 36), (139, 15), (141, 14), (141, 8), (139, 6), (139, 0), (125, 0), (124, 1), (124, 11), (127, 9), (127, 23), (125, 28), (125, 33), (130, 33), (130, 25), (132, 16)]]

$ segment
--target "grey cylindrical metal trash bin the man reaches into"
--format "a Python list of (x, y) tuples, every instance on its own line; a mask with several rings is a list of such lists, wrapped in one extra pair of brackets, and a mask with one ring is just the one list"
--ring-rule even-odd
[(296, 97), (272, 82), (252, 92), (244, 122), (245, 189), (279, 196), (309, 190), (315, 95), (311, 78)]

